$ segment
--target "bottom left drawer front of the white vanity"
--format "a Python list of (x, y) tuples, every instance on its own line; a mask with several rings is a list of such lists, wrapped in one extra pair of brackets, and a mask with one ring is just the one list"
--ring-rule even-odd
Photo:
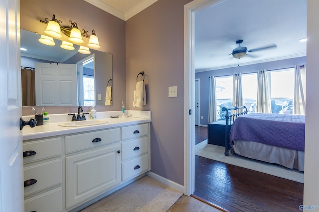
[(24, 201), (25, 212), (62, 212), (62, 187)]

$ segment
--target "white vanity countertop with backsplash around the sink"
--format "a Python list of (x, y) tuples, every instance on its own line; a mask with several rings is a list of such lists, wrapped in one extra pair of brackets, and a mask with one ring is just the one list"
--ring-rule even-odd
[[(25, 126), (22, 129), (23, 140), (29, 139), (37, 139), (37, 138), (44, 138), (44, 137), (51, 137), (51, 136), (59, 136), (71, 133), (79, 133), (79, 132), (87, 132), (92, 130), (101, 130), (101, 129), (108, 129), (113, 127), (121, 127), (127, 126), (132, 124), (140, 124), (140, 123), (147, 123), (151, 122), (151, 112), (150, 111), (126, 111), (126, 115), (128, 117), (119, 117), (119, 118), (110, 118), (110, 115), (122, 115), (122, 112), (115, 111), (115, 112), (98, 112), (97, 117), (101, 120), (108, 121), (104, 124), (99, 125), (92, 125), (92, 126), (59, 126), (60, 122), (70, 121), (71, 117), (67, 116), (67, 114), (59, 114), (59, 115), (52, 115), (52, 121), (50, 124), (35, 126), (31, 128), (30, 126)], [(63, 117), (62, 119), (58, 119), (58, 116)], [(65, 120), (65, 117), (68, 117), (68, 120)], [(101, 117), (101, 118), (99, 118)], [(108, 117), (108, 118), (107, 118)], [(25, 116), (23, 117), (24, 120), (28, 120), (28, 118), (32, 118), (32, 116)], [(50, 116), (51, 120), (51, 116)]]

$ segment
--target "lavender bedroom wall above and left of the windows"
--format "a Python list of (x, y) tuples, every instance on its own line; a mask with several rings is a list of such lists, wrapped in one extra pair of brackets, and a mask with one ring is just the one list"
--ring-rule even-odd
[(200, 79), (200, 125), (207, 125), (208, 123), (208, 107), (209, 107), (209, 76), (224, 76), (232, 75), (234, 73), (250, 73), (258, 70), (273, 70), (294, 67), (294, 65), (306, 64), (306, 57), (298, 57), (293, 59), (278, 60), (274, 62), (259, 63), (248, 66), (233, 67), (226, 69), (218, 69), (212, 71), (204, 71), (195, 73), (195, 78)]

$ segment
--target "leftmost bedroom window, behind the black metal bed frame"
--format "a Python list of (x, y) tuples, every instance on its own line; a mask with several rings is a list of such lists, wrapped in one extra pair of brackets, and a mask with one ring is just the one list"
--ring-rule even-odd
[(223, 107), (233, 106), (233, 76), (216, 77), (217, 119), (224, 119)]

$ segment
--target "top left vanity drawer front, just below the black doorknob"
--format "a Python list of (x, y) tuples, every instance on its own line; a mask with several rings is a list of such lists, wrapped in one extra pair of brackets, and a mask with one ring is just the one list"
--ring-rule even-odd
[(61, 137), (23, 143), (24, 163), (60, 156), (61, 153)]

